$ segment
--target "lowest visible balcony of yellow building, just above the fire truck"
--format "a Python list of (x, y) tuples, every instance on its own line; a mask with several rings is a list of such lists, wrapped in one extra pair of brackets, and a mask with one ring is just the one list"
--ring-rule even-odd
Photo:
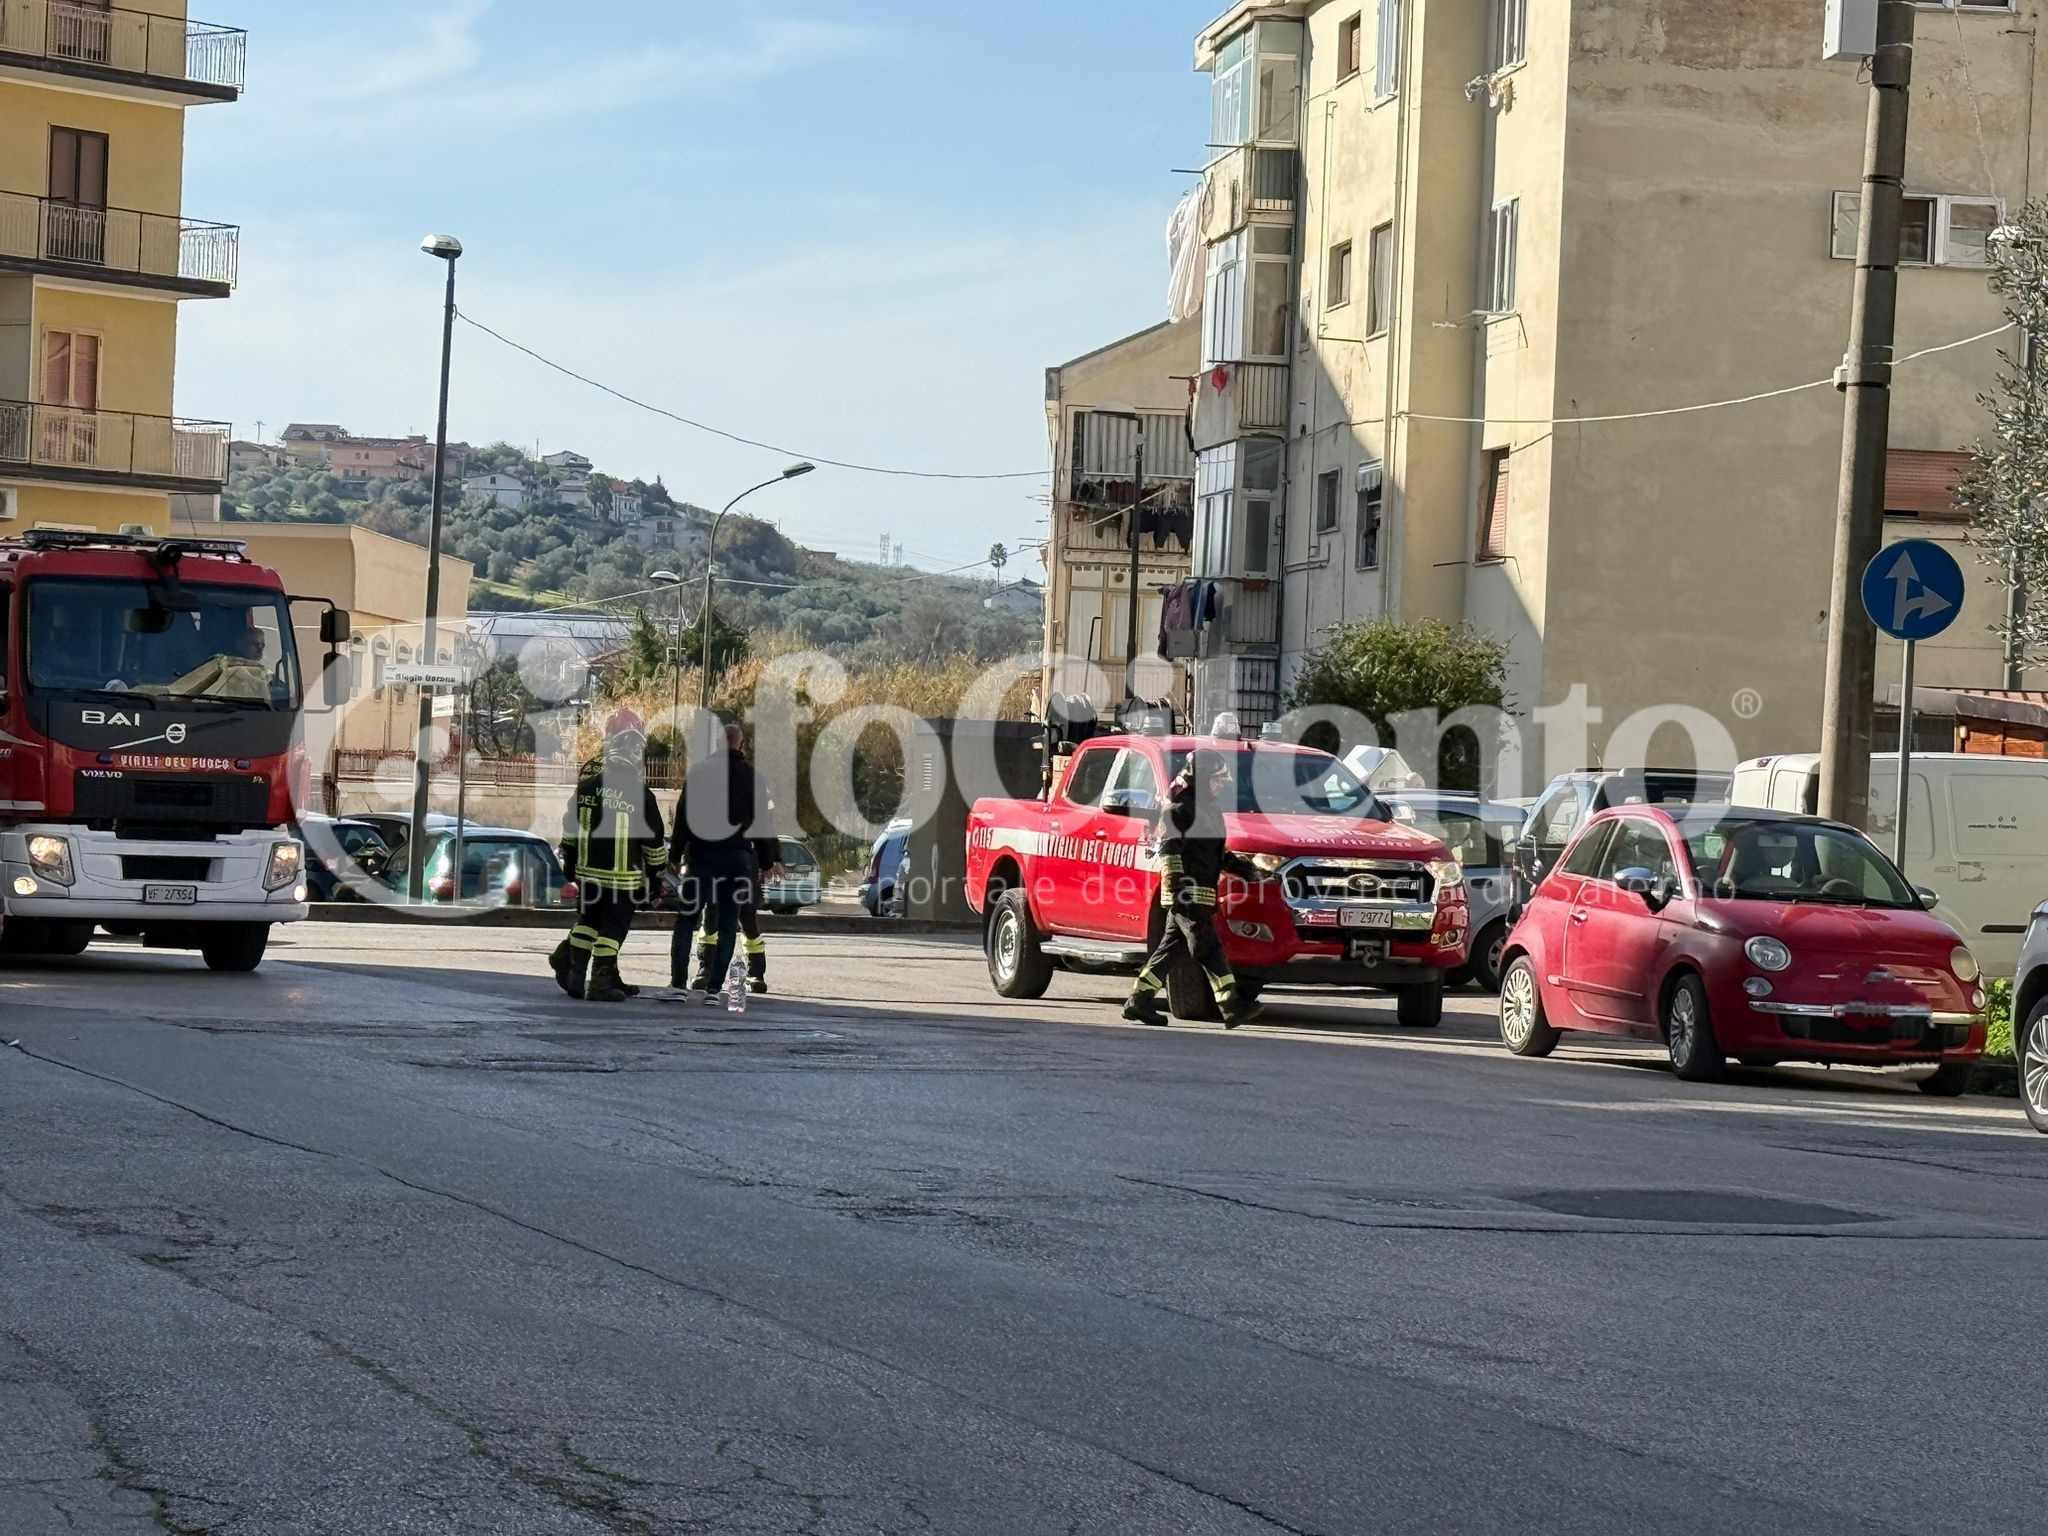
[(213, 496), (227, 483), (227, 422), (0, 399), (0, 473), (68, 485)]

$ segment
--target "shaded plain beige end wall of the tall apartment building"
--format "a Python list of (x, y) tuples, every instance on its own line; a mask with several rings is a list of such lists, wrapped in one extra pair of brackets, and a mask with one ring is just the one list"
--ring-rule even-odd
[[(1743, 395), (1823, 379), (1839, 360), (1853, 266), (1829, 258), (1831, 193), (1858, 184), (1868, 92), (1853, 66), (1821, 63), (1817, 10), (1573, 6), (1561, 410)], [(1909, 190), (2028, 197), (2040, 10), (1919, 12)], [(1997, 322), (1982, 270), (1901, 276), (1903, 352)], [(1993, 367), (1978, 344), (1901, 369), (1892, 444), (1966, 446)], [(1815, 745), (1839, 449), (1833, 389), (1559, 428), (1546, 694), (1587, 680), (1610, 723), (1683, 702), (1726, 719), (1745, 754)], [(1929, 649), (1923, 684), (1993, 676), (1987, 616), (1974, 598), (1958, 635), (1974, 645)], [(1757, 719), (1731, 709), (1739, 690), (1761, 698)]]

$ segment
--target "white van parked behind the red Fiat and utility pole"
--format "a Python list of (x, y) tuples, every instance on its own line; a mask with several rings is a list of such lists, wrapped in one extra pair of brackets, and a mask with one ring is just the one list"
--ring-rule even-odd
[[(2019, 967), (2028, 918), (2048, 897), (2048, 762), (1964, 752), (1915, 752), (1907, 815), (1907, 879), (1942, 897), (1989, 977)], [(1821, 756), (1753, 758), (1735, 770), (1737, 805), (1812, 813)], [(1870, 760), (1870, 836), (1888, 854), (1898, 831), (1898, 754)]]

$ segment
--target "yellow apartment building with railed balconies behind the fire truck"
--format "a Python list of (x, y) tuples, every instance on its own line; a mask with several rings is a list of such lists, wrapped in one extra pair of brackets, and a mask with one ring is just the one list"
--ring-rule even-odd
[(0, 530), (162, 532), (219, 494), (229, 430), (176, 416), (172, 375), (240, 231), (182, 211), (184, 113), (238, 100), (244, 59), (178, 0), (0, 0)]

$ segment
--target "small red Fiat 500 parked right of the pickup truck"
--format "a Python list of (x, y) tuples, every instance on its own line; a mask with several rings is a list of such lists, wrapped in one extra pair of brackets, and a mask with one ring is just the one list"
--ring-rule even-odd
[(1745, 1065), (1929, 1063), (1985, 1051), (1976, 961), (1864, 834), (1747, 807), (1593, 817), (1507, 938), (1501, 1040), (1661, 1038), (1679, 1077)]

